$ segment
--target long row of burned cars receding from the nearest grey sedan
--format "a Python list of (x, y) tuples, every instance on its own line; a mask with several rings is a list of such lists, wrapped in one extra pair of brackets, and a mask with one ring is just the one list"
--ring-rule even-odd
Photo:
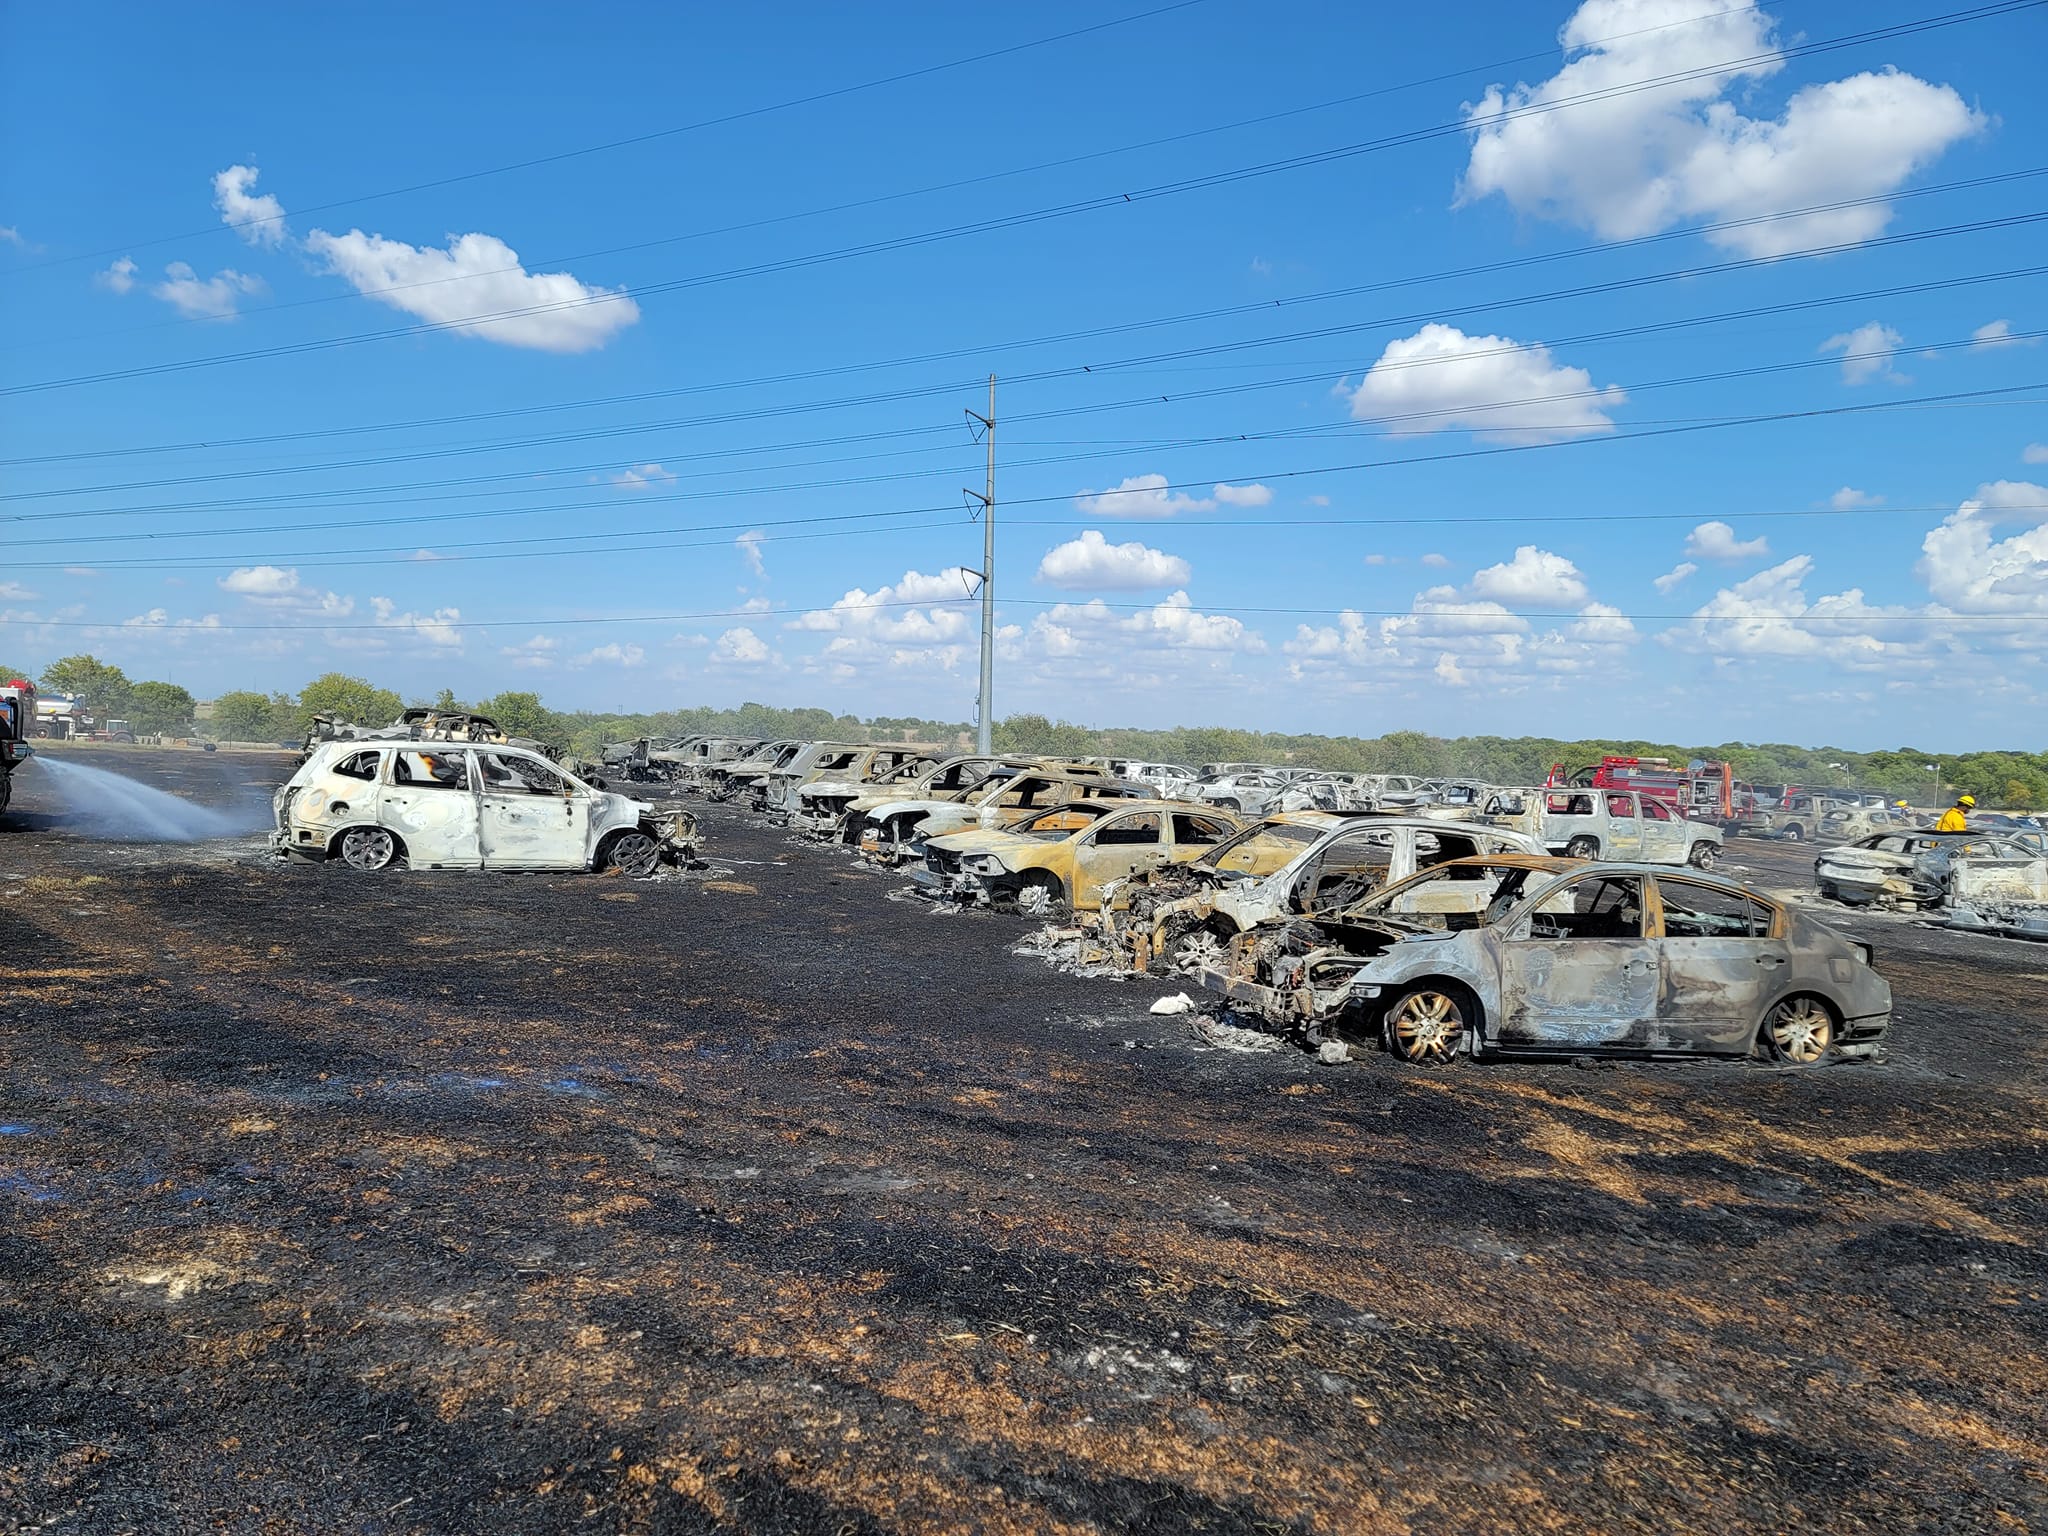
[[(1714, 874), (1718, 827), (1657, 819), (1636, 793), (1262, 815), (1139, 772), (807, 743), (680, 782), (905, 868), (938, 901), (1047, 920), (1038, 946), (1077, 969), (1188, 977), (1282, 1030), (1415, 1063), (1804, 1067), (1870, 1057), (1888, 1028), (1868, 946)], [(1645, 842), (1651, 825), (1667, 836)]]

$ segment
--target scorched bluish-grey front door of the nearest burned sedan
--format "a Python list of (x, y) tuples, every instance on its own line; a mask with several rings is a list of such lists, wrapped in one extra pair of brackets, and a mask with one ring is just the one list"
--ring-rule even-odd
[(1499, 942), (1495, 1038), (1509, 1051), (1622, 1047), (1657, 1018), (1659, 956), (1638, 874), (1587, 874), (1552, 891)]

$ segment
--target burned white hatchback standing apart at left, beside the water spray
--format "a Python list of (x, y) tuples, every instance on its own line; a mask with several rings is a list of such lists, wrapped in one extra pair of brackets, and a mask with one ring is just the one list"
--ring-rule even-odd
[(618, 868), (696, 848), (696, 817), (594, 788), (526, 748), (324, 741), (272, 797), (270, 846), (379, 870)]

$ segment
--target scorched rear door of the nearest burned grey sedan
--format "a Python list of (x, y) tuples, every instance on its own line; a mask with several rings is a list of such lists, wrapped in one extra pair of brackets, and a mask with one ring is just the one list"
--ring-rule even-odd
[(1657, 1034), (1677, 1051), (1743, 1055), (1763, 1006), (1784, 985), (1792, 952), (1774, 938), (1778, 913), (1741, 891), (1657, 881), (1663, 938)]

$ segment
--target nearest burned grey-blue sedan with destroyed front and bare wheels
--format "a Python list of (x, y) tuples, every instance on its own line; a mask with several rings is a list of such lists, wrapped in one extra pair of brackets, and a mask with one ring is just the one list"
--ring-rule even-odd
[(1284, 1026), (1458, 1055), (1872, 1057), (1892, 991), (1870, 948), (1712, 874), (1497, 856), (1239, 936), (1200, 973)]

